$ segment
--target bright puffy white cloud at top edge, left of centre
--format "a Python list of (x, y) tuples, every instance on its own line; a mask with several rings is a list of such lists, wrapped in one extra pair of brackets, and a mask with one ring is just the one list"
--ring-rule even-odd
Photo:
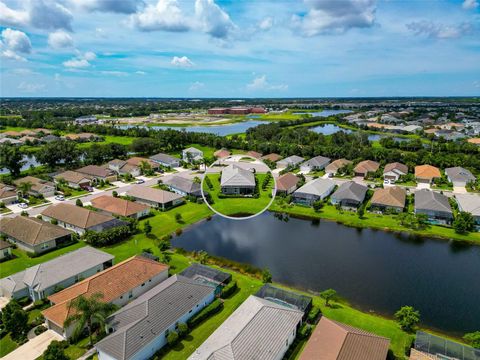
[(141, 31), (187, 31), (190, 21), (184, 16), (176, 0), (158, 0), (130, 17), (130, 23)]

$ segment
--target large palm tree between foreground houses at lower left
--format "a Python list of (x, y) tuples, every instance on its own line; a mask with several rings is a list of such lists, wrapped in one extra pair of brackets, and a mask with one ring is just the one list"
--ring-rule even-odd
[(93, 324), (97, 323), (103, 328), (108, 315), (117, 309), (115, 304), (104, 303), (100, 300), (101, 298), (103, 298), (103, 294), (95, 293), (88, 298), (79, 296), (75, 300), (72, 300), (70, 306), (74, 309), (74, 312), (68, 316), (63, 323), (64, 327), (75, 324), (75, 330), (73, 332), (74, 338), (78, 338), (80, 333), (86, 327), (88, 330), (90, 345), (93, 345)]

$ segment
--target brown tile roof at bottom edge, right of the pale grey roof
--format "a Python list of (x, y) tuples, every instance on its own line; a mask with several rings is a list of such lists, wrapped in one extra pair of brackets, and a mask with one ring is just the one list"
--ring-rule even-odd
[(300, 360), (385, 360), (390, 340), (322, 317)]

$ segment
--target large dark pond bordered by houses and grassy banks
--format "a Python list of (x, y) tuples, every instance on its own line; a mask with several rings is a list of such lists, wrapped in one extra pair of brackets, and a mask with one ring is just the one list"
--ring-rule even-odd
[(365, 311), (392, 316), (412, 305), (432, 328), (454, 334), (480, 329), (480, 246), (330, 221), (285, 222), (268, 212), (242, 221), (214, 216), (172, 244), (267, 267), (274, 281), (300, 289), (333, 288)]

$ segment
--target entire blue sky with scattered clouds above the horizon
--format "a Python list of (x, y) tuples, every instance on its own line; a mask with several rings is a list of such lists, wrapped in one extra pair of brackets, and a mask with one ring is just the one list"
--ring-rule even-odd
[(479, 2), (0, 0), (0, 95), (480, 95)]

